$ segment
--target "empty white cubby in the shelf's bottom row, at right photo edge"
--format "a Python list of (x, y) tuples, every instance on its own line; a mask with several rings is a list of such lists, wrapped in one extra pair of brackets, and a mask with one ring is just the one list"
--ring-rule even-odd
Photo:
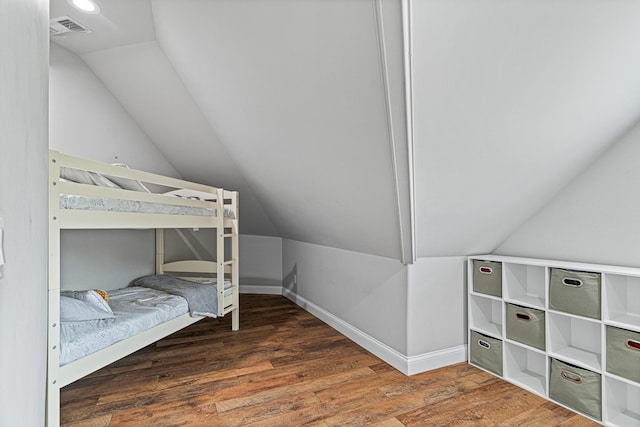
[(606, 424), (640, 427), (640, 386), (615, 378), (605, 378), (607, 394)]

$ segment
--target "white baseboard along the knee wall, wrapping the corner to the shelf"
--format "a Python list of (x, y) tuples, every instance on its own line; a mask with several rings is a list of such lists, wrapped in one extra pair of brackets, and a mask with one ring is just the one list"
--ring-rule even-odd
[(467, 360), (466, 345), (407, 357), (289, 289), (282, 288), (282, 295), (405, 375), (414, 375)]

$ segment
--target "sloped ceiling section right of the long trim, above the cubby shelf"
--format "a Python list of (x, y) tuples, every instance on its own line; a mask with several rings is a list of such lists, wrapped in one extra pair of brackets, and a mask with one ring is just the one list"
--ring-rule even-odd
[(490, 253), (640, 118), (640, 2), (412, 4), (417, 253)]

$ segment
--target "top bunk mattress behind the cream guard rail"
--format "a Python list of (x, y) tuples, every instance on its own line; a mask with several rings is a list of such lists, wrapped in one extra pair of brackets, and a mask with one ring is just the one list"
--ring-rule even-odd
[[(163, 203), (149, 203), (137, 200), (109, 199), (103, 197), (63, 194), (60, 196), (60, 209), (78, 209), (113, 212), (157, 213), (165, 215), (217, 216), (215, 208), (176, 206)], [(234, 216), (231, 209), (225, 208), (224, 216)]]

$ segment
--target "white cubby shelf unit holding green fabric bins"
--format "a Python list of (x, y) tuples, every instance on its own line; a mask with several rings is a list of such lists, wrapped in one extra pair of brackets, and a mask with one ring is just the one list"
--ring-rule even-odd
[[(496, 262), (502, 266), (501, 296), (474, 290), (474, 261)], [(600, 277), (600, 318), (554, 310), (550, 306), (550, 278), (553, 269), (597, 273)], [(497, 270), (497, 269), (496, 269)], [(469, 360), (473, 351), (483, 351), (471, 342), (471, 331), (502, 342), (502, 378), (532, 393), (606, 426), (640, 427), (640, 382), (609, 372), (607, 365), (607, 327), (640, 333), (640, 268), (587, 264), (567, 261), (477, 255), (468, 259)], [(483, 278), (485, 280), (485, 278)], [(542, 310), (545, 314), (545, 348), (531, 347), (507, 337), (507, 304)], [(636, 338), (634, 338), (635, 340)], [(635, 347), (635, 344), (634, 344)], [(478, 350), (478, 348), (480, 348)], [(629, 350), (632, 367), (640, 355)], [(551, 360), (586, 369), (601, 378), (601, 417), (594, 417), (550, 397)], [(610, 357), (613, 362), (613, 357)], [(482, 360), (481, 358), (476, 360)], [(495, 373), (472, 363), (492, 375)], [(635, 368), (632, 368), (635, 369)], [(638, 366), (640, 371), (640, 365)], [(557, 395), (557, 393), (555, 393)]]

